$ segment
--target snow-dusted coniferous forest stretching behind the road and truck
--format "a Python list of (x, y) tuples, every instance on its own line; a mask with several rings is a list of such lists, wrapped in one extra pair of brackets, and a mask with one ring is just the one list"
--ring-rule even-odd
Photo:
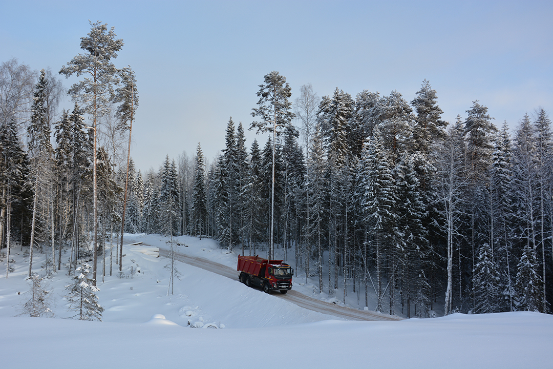
[[(220, 132), (219, 157), (206, 160), (199, 143), (142, 173), (129, 155), (139, 81), (116, 66), (123, 41), (97, 22), (80, 47), (55, 72), (0, 65), (6, 275), (18, 247), (29, 277), (40, 252), (48, 273), (91, 261), (96, 283), (121, 270), (123, 232), (191, 235), (278, 251), (296, 278), (318, 277), (319, 292), (345, 300), (349, 285), (366, 306), (371, 292), (382, 313), (551, 312), (553, 132), (539, 107), (512, 130), (481, 101), (446, 122), (426, 80), (413, 101), (319, 97), (310, 85), (293, 95), (272, 71), (243, 107), (252, 123), (229, 118)], [(60, 112), (66, 94), (74, 108)], [(247, 143), (247, 129), (267, 141)]]

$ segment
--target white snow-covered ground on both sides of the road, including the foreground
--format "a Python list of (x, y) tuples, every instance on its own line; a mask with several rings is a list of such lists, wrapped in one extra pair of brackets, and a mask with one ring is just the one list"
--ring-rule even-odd
[[(237, 253), (222, 251), (211, 240), (176, 240), (181, 253), (236, 267)], [(29, 299), (24, 294), (29, 290), (28, 259), (16, 248), (15, 272), (8, 279), (5, 274), (0, 277), (0, 367), (553, 366), (552, 315), (453, 314), (422, 320), (345, 321), (180, 262), (180, 280), (175, 280), (174, 294), (167, 295), (168, 260), (155, 257), (156, 247), (166, 247), (165, 239), (127, 235), (126, 242), (143, 245), (124, 249), (124, 279), (115, 276), (115, 267), (114, 276), (106, 276), (105, 282), (98, 278), (98, 298), (105, 309), (102, 322), (60, 319), (73, 315), (63, 298), (64, 287), (70, 284), (65, 273), (46, 280), (54, 319), (16, 316)], [(44, 255), (35, 253), (36, 272), (44, 274), (43, 262)], [(5, 262), (1, 265), (5, 273)], [(300, 279), (296, 276), (294, 289), (313, 294), (305, 276)]]

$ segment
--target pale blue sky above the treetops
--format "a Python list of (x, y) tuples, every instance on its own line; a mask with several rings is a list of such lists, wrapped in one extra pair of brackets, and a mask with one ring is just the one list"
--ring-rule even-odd
[[(0, 0), (0, 13), (0, 62), (54, 72), (81, 53), (88, 19), (115, 27), (125, 45), (114, 63), (137, 75), (131, 154), (142, 171), (166, 154), (193, 155), (198, 142), (212, 160), (229, 117), (249, 127), (258, 85), (273, 70), (293, 100), (311, 83), (319, 96), (397, 90), (411, 101), (427, 79), (450, 122), (474, 100), (498, 127), (553, 108), (550, 0)], [(255, 137), (247, 132), (248, 148)]]

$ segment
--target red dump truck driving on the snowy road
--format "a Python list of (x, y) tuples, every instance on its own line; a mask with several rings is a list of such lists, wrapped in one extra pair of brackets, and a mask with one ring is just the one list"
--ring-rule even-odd
[(279, 290), (286, 293), (292, 289), (294, 269), (282, 260), (267, 260), (259, 256), (238, 255), (238, 279), (248, 287), (261, 287), (265, 293)]

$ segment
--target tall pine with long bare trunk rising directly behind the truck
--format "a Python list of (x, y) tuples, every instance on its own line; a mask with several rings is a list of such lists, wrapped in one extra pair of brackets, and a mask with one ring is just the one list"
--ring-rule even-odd
[(291, 125), (295, 115), (291, 112), (292, 103), (288, 100), (292, 95), (290, 85), (286, 78), (279, 72), (272, 71), (264, 77), (264, 85), (259, 85), (257, 96), (258, 107), (252, 108), (252, 117), (259, 117), (260, 121), (252, 122), (250, 129), (259, 133), (271, 132), (273, 136), (273, 165), (272, 165), (272, 190), (271, 190), (271, 215), (270, 215), (270, 236), (269, 236), (269, 259), (274, 258), (274, 199), (275, 199), (275, 165), (276, 165), (276, 137), (283, 131), (293, 130)]

